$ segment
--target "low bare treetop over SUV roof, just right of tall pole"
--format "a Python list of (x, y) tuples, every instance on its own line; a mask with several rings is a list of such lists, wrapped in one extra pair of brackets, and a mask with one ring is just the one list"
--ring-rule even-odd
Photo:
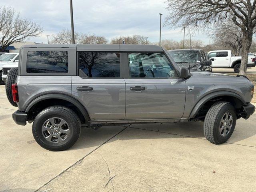
[(104, 36), (80, 34), (78, 42), (80, 44), (107, 44), (108, 40)]

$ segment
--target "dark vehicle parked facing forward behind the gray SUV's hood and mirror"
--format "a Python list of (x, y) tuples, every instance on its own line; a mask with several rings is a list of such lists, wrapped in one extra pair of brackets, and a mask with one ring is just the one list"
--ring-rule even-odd
[(212, 61), (208, 54), (201, 49), (168, 50), (176, 64), (196, 71), (212, 71)]

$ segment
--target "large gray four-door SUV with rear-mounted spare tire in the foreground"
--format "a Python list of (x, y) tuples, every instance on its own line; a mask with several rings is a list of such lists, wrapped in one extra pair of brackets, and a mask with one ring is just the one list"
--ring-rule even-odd
[(246, 76), (189, 73), (154, 45), (24, 45), (6, 83), (13, 120), (33, 122), (36, 142), (52, 151), (70, 148), (81, 126), (192, 120), (221, 144), (254, 112), (253, 91)]

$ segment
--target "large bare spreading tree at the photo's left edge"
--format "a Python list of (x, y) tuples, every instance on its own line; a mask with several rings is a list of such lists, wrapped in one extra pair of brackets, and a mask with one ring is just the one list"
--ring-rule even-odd
[(14, 42), (27, 41), (42, 32), (40, 24), (21, 18), (12, 8), (0, 7), (0, 52)]

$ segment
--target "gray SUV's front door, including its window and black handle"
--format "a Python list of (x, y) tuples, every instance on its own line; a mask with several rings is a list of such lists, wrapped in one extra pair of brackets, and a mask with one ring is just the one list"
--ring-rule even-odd
[(129, 53), (126, 119), (181, 118), (186, 83), (177, 77), (164, 53)]

